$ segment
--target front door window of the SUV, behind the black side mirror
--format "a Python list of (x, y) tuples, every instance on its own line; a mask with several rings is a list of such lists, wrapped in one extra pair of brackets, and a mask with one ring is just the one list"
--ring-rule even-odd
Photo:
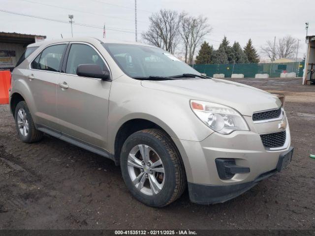
[(86, 44), (72, 44), (65, 73), (76, 75), (77, 67), (80, 64), (97, 64), (103, 71), (108, 71), (103, 59), (92, 47)]

